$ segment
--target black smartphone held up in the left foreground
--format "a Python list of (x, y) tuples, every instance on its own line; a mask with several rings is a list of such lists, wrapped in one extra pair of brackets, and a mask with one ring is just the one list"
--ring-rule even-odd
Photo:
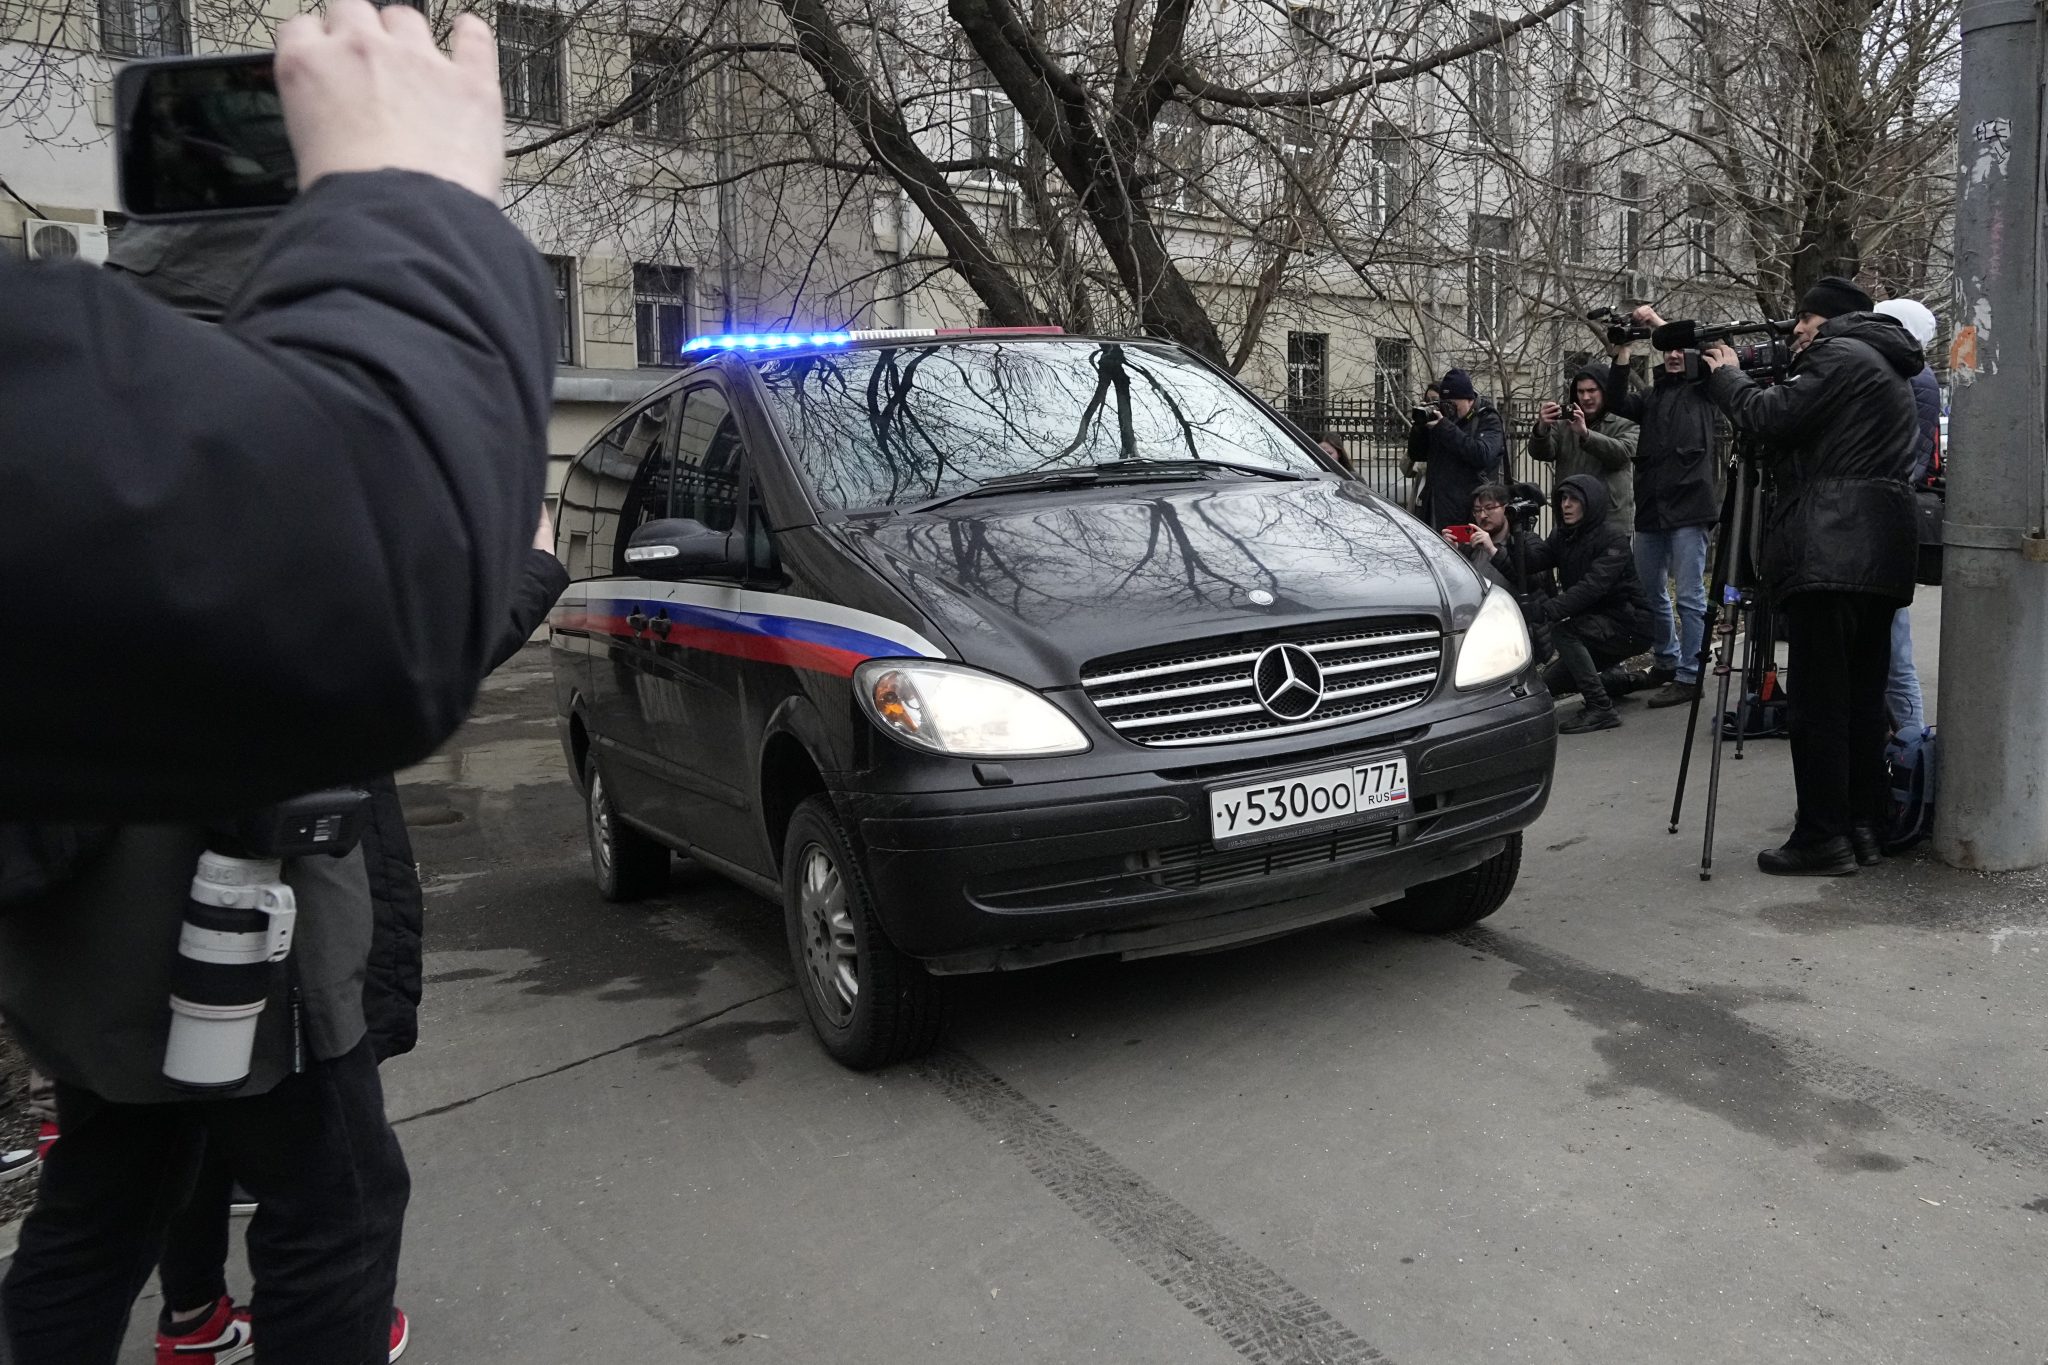
[(274, 213), (299, 192), (272, 53), (131, 61), (115, 74), (115, 160), (131, 219)]

